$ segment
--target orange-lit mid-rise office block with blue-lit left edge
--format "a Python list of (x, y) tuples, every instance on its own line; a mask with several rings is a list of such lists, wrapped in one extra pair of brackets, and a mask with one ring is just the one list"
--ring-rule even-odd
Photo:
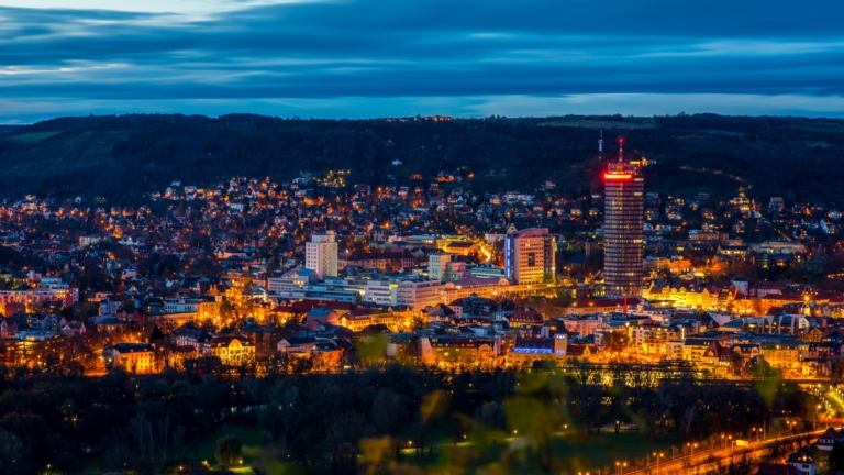
[(518, 231), (510, 224), (504, 238), (504, 277), (519, 285), (554, 283), (554, 247), (547, 228)]

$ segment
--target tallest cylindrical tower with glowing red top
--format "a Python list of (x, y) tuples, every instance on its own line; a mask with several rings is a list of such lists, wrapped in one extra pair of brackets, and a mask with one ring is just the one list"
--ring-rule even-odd
[(644, 178), (636, 166), (619, 161), (603, 173), (603, 278), (608, 296), (642, 294)]

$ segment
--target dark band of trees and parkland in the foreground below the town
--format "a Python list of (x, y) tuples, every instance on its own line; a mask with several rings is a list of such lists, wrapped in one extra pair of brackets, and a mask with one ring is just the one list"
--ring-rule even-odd
[[(582, 446), (597, 434), (611, 443), (628, 423), (638, 426), (642, 441), (720, 443), (721, 434), (746, 437), (764, 423), (774, 431), (782, 415), (811, 420), (814, 407), (781, 380), (608, 385), (606, 374), (574, 374), (388, 365), (341, 375), (91, 378), (3, 367), (0, 473), (237, 470), (245, 432), (259, 433), (245, 463), (265, 474), (423, 473), (420, 466), (457, 474), (481, 464), (507, 473), (520, 460), (542, 473), (577, 473), (589, 468), (581, 456), (551, 448)], [(203, 455), (210, 434), (212, 457)], [(493, 445), (497, 459), (484, 459)]]

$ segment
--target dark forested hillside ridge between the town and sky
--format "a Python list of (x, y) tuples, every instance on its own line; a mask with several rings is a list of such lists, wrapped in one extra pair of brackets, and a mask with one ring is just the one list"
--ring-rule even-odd
[[(554, 179), (565, 194), (597, 189), (598, 128), (614, 156), (646, 156), (647, 188), (842, 201), (844, 121), (713, 114), (482, 120), (282, 120), (234, 114), (59, 118), (0, 128), (0, 194), (116, 201), (233, 175), (289, 179), (351, 169), (349, 183), (427, 177), (470, 167), (465, 186), (530, 190)], [(402, 165), (395, 167), (393, 161)]]

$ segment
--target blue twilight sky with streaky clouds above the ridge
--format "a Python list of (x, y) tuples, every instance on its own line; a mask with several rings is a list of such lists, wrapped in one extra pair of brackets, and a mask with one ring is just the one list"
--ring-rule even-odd
[(844, 117), (841, 0), (0, 0), (0, 123)]

